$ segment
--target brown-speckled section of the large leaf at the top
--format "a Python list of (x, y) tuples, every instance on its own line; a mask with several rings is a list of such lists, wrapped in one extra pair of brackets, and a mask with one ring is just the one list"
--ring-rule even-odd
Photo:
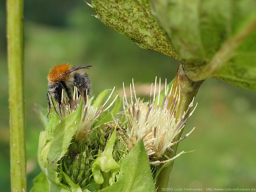
[(118, 31), (135, 45), (177, 59), (167, 39), (151, 14), (148, 0), (91, 0), (96, 18)]

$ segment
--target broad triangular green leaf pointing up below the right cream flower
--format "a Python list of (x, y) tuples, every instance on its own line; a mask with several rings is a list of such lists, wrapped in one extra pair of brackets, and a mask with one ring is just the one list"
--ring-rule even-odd
[(155, 192), (155, 184), (142, 140), (123, 159), (117, 182), (102, 192)]

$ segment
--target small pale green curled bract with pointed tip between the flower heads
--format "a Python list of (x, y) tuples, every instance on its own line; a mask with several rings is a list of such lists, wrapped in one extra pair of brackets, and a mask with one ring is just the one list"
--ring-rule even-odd
[[(109, 138), (106, 148), (103, 153), (95, 159), (92, 166), (93, 178), (97, 184), (103, 184), (103, 182), (109, 185), (109, 182), (113, 181), (114, 176), (120, 169), (120, 165), (113, 159), (113, 147), (116, 141), (116, 129), (114, 129), (111, 137)], [(108, 173), (108, 178), (104, 178), (104, 173)], [(106, 176), (106, 175), (105, 175)], [(108, 181), (105, 181), (108, 180)], [(109, 181), (111, 180), (111, 181)]]

